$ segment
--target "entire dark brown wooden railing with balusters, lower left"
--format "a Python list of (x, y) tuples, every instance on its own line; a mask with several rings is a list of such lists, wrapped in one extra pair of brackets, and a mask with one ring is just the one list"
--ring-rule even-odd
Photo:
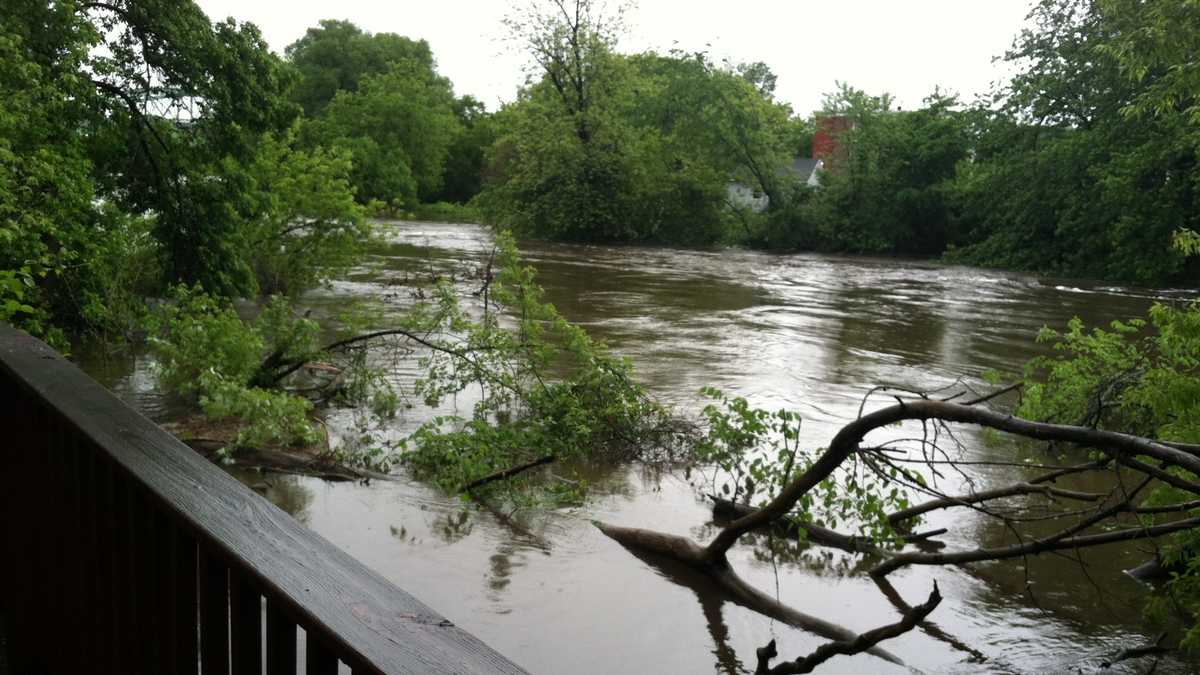
[(17, 675), (523, 673), (0, 324)]

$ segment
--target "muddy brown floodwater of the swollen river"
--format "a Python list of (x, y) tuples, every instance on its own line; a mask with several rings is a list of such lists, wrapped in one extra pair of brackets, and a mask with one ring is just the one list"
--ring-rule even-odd
[[(490, 251), (491, 235), (476, 226), (384, 228), (386, 241), (361, 268), (304, 303), (328, 316), (352, 300), (398, 312), (412, 301), (407, 282), (461, 274)], [(1072, 316), (1108, 323), (1142, 315), (1156, 299), (1194, 297), (892, 258), (551, 244), (523, 251), (550, 300), (630, 357), (659, 398), (695, 410), (698, 389), (715, 386), (758, 406), (796, 410), (809, 448), (852, 419), (874, 386), (931, 389), (964, 378), (985, 387), (985, 370), (1018, 371), (1044, 352), (1033, 341), (1043, 325), (1061, 328)], [(167, 417), (172, 404), (148, 364), (142, 356), (85, 359), (119, 395)], [(397, 382), (414, 374), (414, 364), (398, 364)], [(469, 412), (469, 402), (458, 405)], [(407, 411), (391, 432), (402, 435), (430, 414)], [(350, 413), (332, 422), (346, 435), (354, 424)], [(970, 430), (961, 438), (972, 460), (1055, 459)], [(978, 488), (1027, 474), (972, 472)], [(725, 602), (684, 571), (635, 557), (590, 525), (599, 519), (710, 537), (709, 510), (678, 476), (611, 471), (594, 477), (584, 507), (518, 513), (517, 528), (404, 477), (368, 485), (240, 477), (533, 673), (750, 673), (755, 647), (769, 639), (792, 657), (822, 643)], [(967, 510), (937, 514), (929, 525), (950, 530), (950, 549), (1009, 542), (1002, 526)], [(1099, 670), (1105, 658), (1148, 639), (1139, 621), (1146, 589), (1122, 572), (1147, 557), (1142, 548), (1090, 550), (1086, 573), (1063, 556), (900, 571), (890, 581), (907, 602), (923, 601), (934, 580), (946, 601), (931, 617), (934, 629), (886, 646), (925, 673), (1142, 673), (1146, 661)], [(760, 589), (853, 629), (898, 616), (856, 558), (840, 551), (808, 548), (773, 560), (762, 548), (739, 545), (731, 561)], [(856, 656), (820, 671), (910, 670)], [(1200, 667), (1168, 658), (1157, 671)]]

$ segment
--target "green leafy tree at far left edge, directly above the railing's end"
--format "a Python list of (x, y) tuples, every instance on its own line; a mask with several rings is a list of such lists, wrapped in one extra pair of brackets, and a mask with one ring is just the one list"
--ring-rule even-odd
[[(65, 288), (91, 286), (79, 263), (101, 214), (78, 132), (91, 115), (78, 102), (92, 92), (70, 77), (88, 42), (49, 47), (50, 32), (88, 28), (68, 7), (38, 2), (0, 14), (0, 319), (35, 335), (48, 335), (82, 301)], [(49, 336), (64, 346), (61, 335)]]

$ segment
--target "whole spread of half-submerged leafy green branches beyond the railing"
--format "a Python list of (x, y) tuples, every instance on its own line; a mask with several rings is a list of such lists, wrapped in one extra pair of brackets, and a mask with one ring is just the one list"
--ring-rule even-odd
[[(469, 417), (421, 425), (398, 455), (449, 491), (542, 458), (565, 464), (670, 456), (685, 429), (632, 380), (630, 364), (544, 301), (510, 237), (498, 238), (493, 265), (482, 306), (464, 305), (442, 280), (428, 300), (389, 319), (396, 328), (352, 333), (325, 346), (318, 324), (296, 316), (281, 295), (245, 319), (228, 301), (180, 286), (151, 315), (150, 347), (166, 387), (196, 402), (210, 422), (236, 426), (228, 454), (316, 443), (319, 411), (312, 400), (370, 411), (382, 422), (396, 413), (401, 396), (438, 406), (478, 392)], [(410, 392), (397, 393), (378, 354), (416, 350), (422, 376)], [(301, 372), (312, 363), (336, 377), (313, 386)], [(384, 438), (364, 431), (324, 452), (376, 467), (395, 459)], [(558, 492), (574, 498), (584, 488), (569, 485)]]

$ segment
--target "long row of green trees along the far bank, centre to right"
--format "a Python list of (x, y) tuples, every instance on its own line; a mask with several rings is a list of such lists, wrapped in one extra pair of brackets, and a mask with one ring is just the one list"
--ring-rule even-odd
[[(1200, 279), (1172, 247), (1200, 220), (1195, 4), (1042, 0), (1003, 55), (1018, 74), (973, 104), (935, 90), (901, 112), (841, 85), (822, 113), (853, 126), (817, 189), (785, 168), (814, 118), (774, 98), (766, 65), (616, 54), (582, 17), (514, 22), (541, 77), (496, 115), (476, 203), (527, 235)], [(766, 209), (731, 203), (734, 181)]]

